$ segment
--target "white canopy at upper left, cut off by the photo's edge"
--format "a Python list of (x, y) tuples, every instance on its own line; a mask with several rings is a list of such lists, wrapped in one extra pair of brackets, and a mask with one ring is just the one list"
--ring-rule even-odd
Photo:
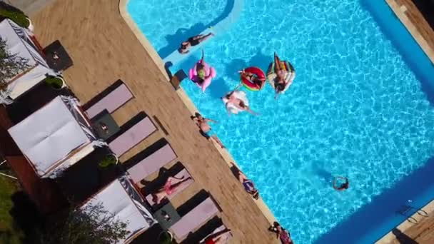
[(28, 91), (46, 78), (46, 74), (55, 76), (56, 72), (49, 68), (45, 59), (36, 49), (36, 45), (30, 38), (29, 31), (9, 19), (0, 22), (0, 37), (6, 41), (7, 49), (11, 54), (16, 54), (28, 60), (29, 68), (19, 75), (11, 78), (7, 83), (8, 94), (15, 99)]

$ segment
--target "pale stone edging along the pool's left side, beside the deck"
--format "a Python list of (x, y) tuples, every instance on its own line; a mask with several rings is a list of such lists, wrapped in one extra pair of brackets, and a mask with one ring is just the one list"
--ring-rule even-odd
[[(130, 14), (128, 14), (128, 11), (126, 9), (126, 5), (128, 4), (128, 1), (129, 0), (119, 0), (118, 8), (122, 16), (122, 19), (126, 22), (126, 24), (131, 29), (131, 31), (133, 31), (133, 34), (136, 36), (136, 38), (143, 46), (143, 48), (148, 52), (149, 56), (151, 56), (151, 59), (153, 60), (154, 63), (156, 63), (161, 73), (163, 73), (163, 75), (166, 77), (166, 82), (168, 82), (169, 77), (166, 72), (166, 69), (164, 68), (163, 59), (161, 59), (157, 51), (153, 49), (151, 43), (148, 41), (148, 39), (146, 39), (146, 36), (140, 31), (140, 29), (138, 29), (136, 22), (133, 21)], [(181, 98), (181, 101), (183, 101), (184, 105), (188, 108), (188, 111), (190, 111), (192, 115), (196, 113), (196, 111), (198, 111), (198, 108), (196, 108), (193, 101), (191, 101), (191, 99), (187, 96), (186, 92), (183, 90), (182, 87), (180, 87), (175, 92)], [(213, 143), (213, 145), (215, 146), (216, 150), (221, 154), (222, 158), (226, 161), (228, 166), (230, 166), (231, 162), (235, 163), (238, 166), (238, 164), (233, 159), (231, 154), (228, 153), (228, 151), (223, 151), (221, 148), (219, 148), (216, 145), (216, 143)], [(253, 200), (253, 198), (251, 199)], [(274, 221), (276, 221), (276, 217), (273, 215), (270, 208), (268, 208), (268, 205), (266, 205), (266, 203), (262, 200), (261, 197), (258, 200), (253, 200), (253, 203), (255, 203), (258, 206), (258, 208), (261, 210), (261, 212), (266, 217), (269, 223), (273, 223)]]

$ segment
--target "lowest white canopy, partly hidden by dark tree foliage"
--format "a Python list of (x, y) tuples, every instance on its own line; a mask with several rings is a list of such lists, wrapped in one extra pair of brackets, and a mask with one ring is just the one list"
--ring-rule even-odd
[[(156, 223), (156, 220), (145, 207), (143, 198), (128, 180), (128, 176), (122, 176), (107, 185), (86, 201), (80, 209), (86, 210), (89, 206), (99, 204), (111, 215), (111, 219), (126, 223), (126, 230), (129, 231), (129, 234), (118, 243), (128, 243)], [(89, 210), (89, 208), (87, 209)]]

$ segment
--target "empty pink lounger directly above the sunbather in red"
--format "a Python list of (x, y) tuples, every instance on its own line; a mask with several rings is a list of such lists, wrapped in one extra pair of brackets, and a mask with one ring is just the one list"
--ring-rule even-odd
[(170, 144), (166, 144), (166, 146), (158, 149), (155, 153), (152, 153), (136, 165), (128, 168), (127, 171), (133, 182), (138, 183), (143, 180), (143, 178), (146, 178), (146, 176), (149, 176), (151, 173), (158, 171), (161, 167), (173, 161), (176, 157), (176, 153), (173, 151)]

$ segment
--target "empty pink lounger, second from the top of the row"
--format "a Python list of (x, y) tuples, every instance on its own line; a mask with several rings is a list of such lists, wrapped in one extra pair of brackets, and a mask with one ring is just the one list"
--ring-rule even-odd
[(109, 148), (116, 156), (120, 157), (123, 153), (126, 153), (156, 130), (157, 128), (149, 117), (143, 118), (133, 127), (129, 128), (128, 131), (125, 131), (111, 141)]

